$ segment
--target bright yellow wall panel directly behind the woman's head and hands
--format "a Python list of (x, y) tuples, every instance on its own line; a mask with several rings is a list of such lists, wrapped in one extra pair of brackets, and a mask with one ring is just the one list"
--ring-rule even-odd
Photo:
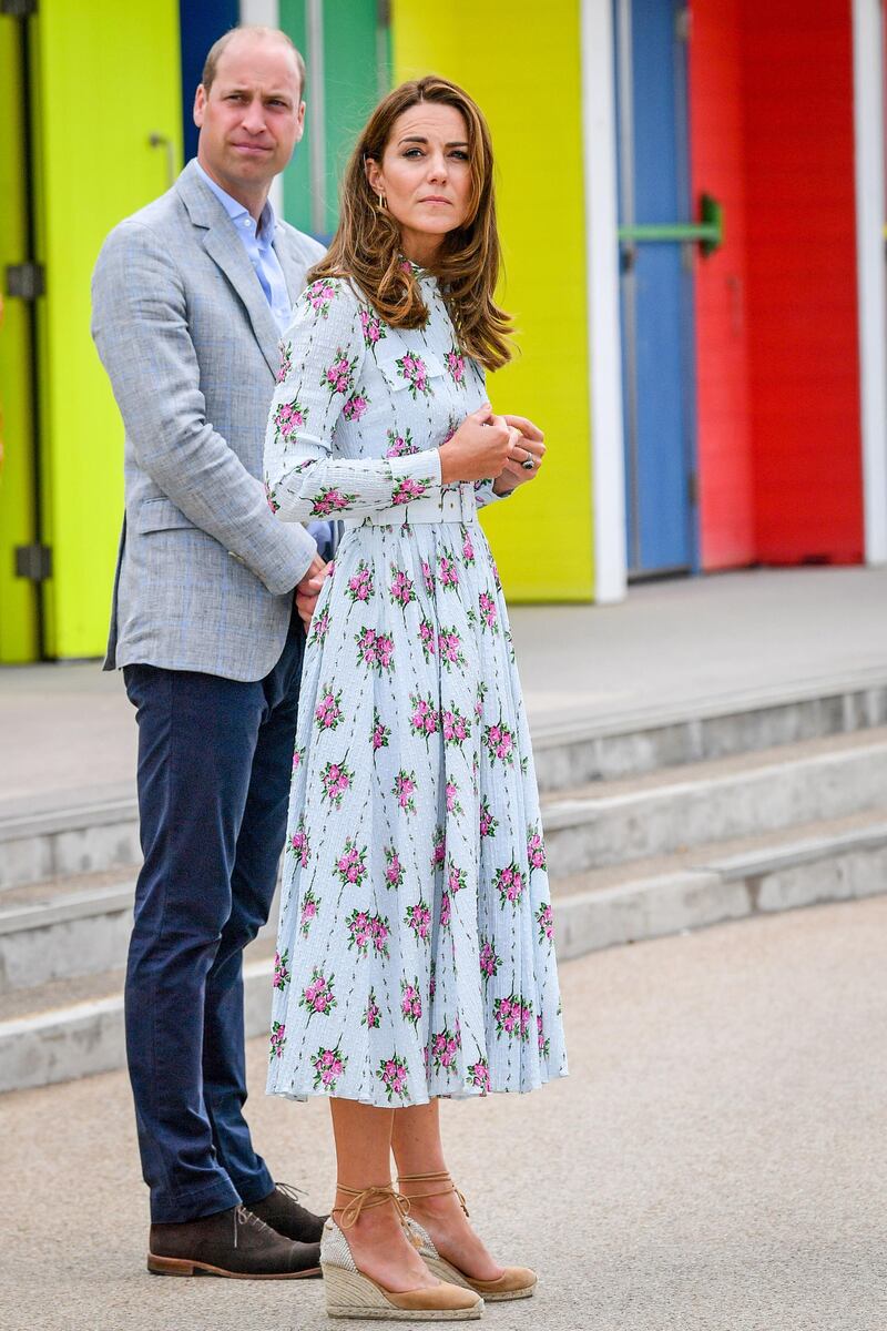
[(395, 0), (395, 81), (463, 84), (493, 134), (505, 272), (520, 355), (491, 378), (496, 410), (544, 430), (540, 479), (484, 512), (513, 600), (589, 600), (593, 590), (585, 310), (581, 44), (577, 0)]

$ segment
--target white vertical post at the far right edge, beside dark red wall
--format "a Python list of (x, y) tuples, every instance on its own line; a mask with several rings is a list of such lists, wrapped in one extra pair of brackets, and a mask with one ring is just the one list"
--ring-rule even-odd
[(854, 0), (856, 282), (866, 563), (887, 563), (887, 281), (880, 0)]

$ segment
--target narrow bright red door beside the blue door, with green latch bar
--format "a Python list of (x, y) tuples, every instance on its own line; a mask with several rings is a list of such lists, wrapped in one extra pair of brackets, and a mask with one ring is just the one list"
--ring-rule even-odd
[(749, 415), (741, 0), (694, 0), (690, 174), (723, 204), (725, 244), (696, 265), (699, 542), (703, 568), (755, 558)]

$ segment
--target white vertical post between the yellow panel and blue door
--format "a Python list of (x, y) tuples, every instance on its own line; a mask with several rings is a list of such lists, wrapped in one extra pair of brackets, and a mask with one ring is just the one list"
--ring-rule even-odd
[(594, 600), (606, 604), (622, 600), (628, 583), (610, 0), (582, 0), (581, 57)]

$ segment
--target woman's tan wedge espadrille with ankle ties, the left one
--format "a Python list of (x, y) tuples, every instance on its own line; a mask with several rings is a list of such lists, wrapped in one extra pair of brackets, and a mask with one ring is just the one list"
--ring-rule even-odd
[[(391, 1185), (367, 1187), (362, 1193), (342, 1187), (354, 1201), (342, 1211), (343, 1229), (356, 1223), (363, 1209), (394, 1202), (406, 1218), (408, 1203)], [(323, 1227), (320, 1268), (326, 1287), (326, 1310), (331, 1318), (362, 1318), (386, 1322), (465, 1322), (479, 1318), (484, 1300), (473, 1290), (442, 1280), (430, 1288), (386, 1290), (358, 1270), (348, 1240), (332, 1217)]]

